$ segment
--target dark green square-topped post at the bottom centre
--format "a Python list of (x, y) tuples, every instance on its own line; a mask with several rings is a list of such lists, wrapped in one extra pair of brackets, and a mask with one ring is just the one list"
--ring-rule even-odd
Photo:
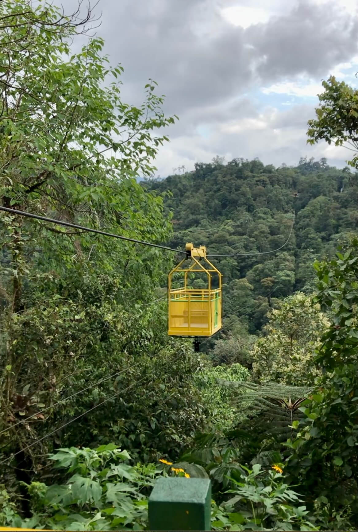
[(149, 530), (211, 530), (209, 478), (159, 478), (148, 501)]

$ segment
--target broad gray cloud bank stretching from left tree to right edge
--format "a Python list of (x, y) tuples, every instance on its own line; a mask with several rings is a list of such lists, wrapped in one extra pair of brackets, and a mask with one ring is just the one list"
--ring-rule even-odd
[[(73, 9), (73, 0), (64, 6)], [(257, 75), (262, 84), (304, 72), (320, 76), (358, 49), (358, 19), (334, 3), (301, 0), (289, 14), (246, 30), (224, 21), (217, 6), (215, 0), (101, 0), (98, 33), (111, 62), (124, 67), (123, 96), (137, 102), (152, 77), (167, 97), (166, 111), (181, 114), (242, 94)]]

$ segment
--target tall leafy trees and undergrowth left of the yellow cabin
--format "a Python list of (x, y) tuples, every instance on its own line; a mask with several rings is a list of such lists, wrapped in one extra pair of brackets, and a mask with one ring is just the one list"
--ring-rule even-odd
[[(72, 54), (76, 24), (46, 2), (1, 2), (0, 20), (2, 204), (169, 239), (162, 198), (135, 180), (153, 173), (168, 140), (157, 132), (174, 121), (154, 82), (142, 106), (122, 102), (122, 67), (109, 65), (103, 40)], [(78, 434), (81, 444), (110, 439), (146, 458), (179, 453), (206, 412), (194, 385), (199, 360), (187, 341), (168, 338), (165, 304), (153, 304), (173, 256), (3, 212), (0, 226), (7, 484), (29, 481), (26, 471), (43, 470), (47, 451), (78, 445)]]

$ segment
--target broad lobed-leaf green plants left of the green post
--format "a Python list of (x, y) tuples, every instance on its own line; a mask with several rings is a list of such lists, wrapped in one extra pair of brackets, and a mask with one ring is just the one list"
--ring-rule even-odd
[[(65, 483), (32, 482), (32, 526), (63, 530), (143, 530), (148, 521), (148, 493), (163, 474), (154, 464), (129, 465), (131, 456), (113, 444), (96, 449), (63, 448), (49, 457), (65, 470)], [(26, 525), (19, 516), (11, 526)]]

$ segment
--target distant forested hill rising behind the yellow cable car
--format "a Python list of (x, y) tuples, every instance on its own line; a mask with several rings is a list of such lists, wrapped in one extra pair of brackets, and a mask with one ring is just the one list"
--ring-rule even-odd
[(312, 292), (313, 262), (334, 256), (358, 223), (355, 171), (324, 159), (274, 168), (216, 157), (144, 186), (163, 194), (166, 212), (173, 212), (171, 246), (207, 246), (223, 273), (224, 315), (245, 314), (240, 322), (251, 334), (261, 330), (277, 298)]

